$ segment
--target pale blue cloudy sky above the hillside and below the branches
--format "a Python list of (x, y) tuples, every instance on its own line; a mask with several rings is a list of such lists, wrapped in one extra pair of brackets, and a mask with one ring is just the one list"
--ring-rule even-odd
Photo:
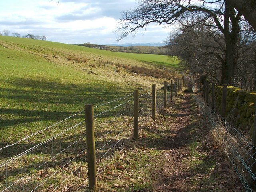
[(44, 35), (46, 40), (67, 44), (122, 44), (163, 42), (171, 27), (152, 24), (136, 36), (116, 41), (121, 12), (137, 0), (2, 0), (0, 31)]

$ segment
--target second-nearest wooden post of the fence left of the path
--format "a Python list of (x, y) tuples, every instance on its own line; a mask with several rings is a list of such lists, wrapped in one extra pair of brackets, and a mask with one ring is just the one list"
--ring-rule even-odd
[(134, 90), (133, 138), (139, 138), (139, 91)]

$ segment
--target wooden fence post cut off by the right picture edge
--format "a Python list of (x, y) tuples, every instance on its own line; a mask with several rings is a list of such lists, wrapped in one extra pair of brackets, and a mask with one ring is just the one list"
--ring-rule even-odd
[[(251, 149), (251, 171), (253, 174), (256, 173), (256, 100), (254, 102), (254, 107), (255, 107), (255, 111), (254, 111), (254, 124), (253, 124), (253, 132), (252, 132), (252, 146), (253, 148)], [(256, 180), (254, 180), (254, 178), (250, 178), (250, 187), (252, 188), (252, 190), (255, 190), (256, 187)]]

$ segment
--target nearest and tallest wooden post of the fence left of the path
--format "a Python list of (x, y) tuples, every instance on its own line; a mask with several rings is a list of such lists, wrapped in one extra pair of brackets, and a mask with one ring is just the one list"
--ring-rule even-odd
[(97, 190), (94, 118), (93, 118), (93, 116), (94, 116), (93, 115), (93, 105), (92, 104), (85, 105), (85, 127), (86, 127), (89, 191)]

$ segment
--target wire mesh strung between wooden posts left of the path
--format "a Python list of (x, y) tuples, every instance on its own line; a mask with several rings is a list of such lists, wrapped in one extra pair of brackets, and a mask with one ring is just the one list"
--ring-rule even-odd
[[(157, 86), (156, 106), (164, 91)], [(132, 139), (133, 94), (95, 110), (97, 177)], [(150, 120), (152, 89), (139, 92), (139, 125)], [(84, 110), (35, 133), (0, 146), (0, 191), (85, 191), (88, 167)]]

